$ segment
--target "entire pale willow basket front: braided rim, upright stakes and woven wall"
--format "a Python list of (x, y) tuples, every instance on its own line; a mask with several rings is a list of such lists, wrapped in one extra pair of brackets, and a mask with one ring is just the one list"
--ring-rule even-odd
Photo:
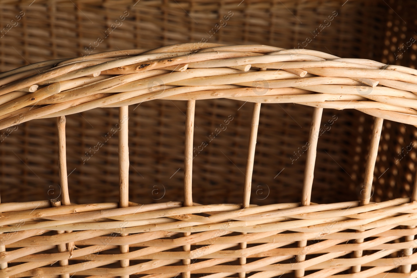
[[(417, 125), (417, 70), (266, 45), (195, 47), (110, 51), (0, 74), (0, 128), (57, 117), (62, 191), (52, 202), (0, 204), (0, 278), (414, 277), (417, 182), (411, 198), (373, 203), (370, 194), (383, 119)], [(193, 203), (196, 100), (211, 98), (254, 103), (246, 177), (235, 181), (244, 184), (242, 204)], [(128, 105), (155, 99), (187, 101), (183, 202), (129, 201)], [(251, 204), (261, 103), (314, 107), (300, 203)], [(65, 115), (98, 107), (119, 107), (120, 202), (77, 205)], [(311, 202), (324, 108), (376, 117), (361, 200)]]

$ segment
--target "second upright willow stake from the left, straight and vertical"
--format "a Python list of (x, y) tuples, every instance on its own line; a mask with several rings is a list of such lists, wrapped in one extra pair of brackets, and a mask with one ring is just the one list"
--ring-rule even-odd
[[(119, 107), (119, 189), (120, 207), (129, 206), (129, 147), (128, 147), (128, 119), (129, 107)], [(123, 233), (120, 236), (129, 235)], [(120, 253), (129, 253), (129, 245), (120, 245)], [(120, 260), (120, 267), (128, 267), (129, 260)], [(122, 275), (121, 278), (129, 278), (129, 275)]]

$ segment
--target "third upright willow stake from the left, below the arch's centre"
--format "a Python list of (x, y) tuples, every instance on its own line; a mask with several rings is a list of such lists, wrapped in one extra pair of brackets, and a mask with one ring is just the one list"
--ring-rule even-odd
[[(187, 100), (186, 125), (185, 125), (185, 161), (184, 161), (184, 206), (191, 207), (193, 205), (193, 136), (194, 136), (194, 114), (196, 111), (196, 101)], [(184, 233), (184, 236), (191, 235), (191, 233)], [(188, 253), (191, 250), (191, 245), (184, 245), (183, 250)], [(189, 265), (190, 259), (184, 259), (183, 265)], [(183, 278), (190, 278), (190, 272), (183, 272)]]

